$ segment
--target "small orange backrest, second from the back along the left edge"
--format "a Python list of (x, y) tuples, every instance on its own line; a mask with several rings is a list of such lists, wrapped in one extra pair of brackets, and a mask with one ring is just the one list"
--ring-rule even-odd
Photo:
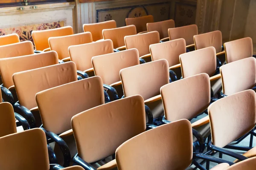
[(26, 56), (30, 54), (34, 54), (34, 47), (31, 41), (23, 41), (0, 46), (0, 59), (8, 57)]

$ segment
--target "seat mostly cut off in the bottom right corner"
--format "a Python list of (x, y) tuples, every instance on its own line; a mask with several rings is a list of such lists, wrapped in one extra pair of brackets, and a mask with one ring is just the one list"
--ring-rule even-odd
[(256, 158), (249, 158), (232, 166), (229, 166), (227, 163), (222, 163), (215, 166), (211, 170), (255, 170), (255, 167)]

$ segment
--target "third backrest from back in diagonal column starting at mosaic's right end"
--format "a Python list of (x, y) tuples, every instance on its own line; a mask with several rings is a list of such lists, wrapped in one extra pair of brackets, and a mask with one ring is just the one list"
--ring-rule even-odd
[(92, 68), (92, 57), (113, 53), (113, 42), (102, 40), (81, 45), (72, 45), (68, 48), (71, 61), (76, 63), (77, 70), (85, 71)]

